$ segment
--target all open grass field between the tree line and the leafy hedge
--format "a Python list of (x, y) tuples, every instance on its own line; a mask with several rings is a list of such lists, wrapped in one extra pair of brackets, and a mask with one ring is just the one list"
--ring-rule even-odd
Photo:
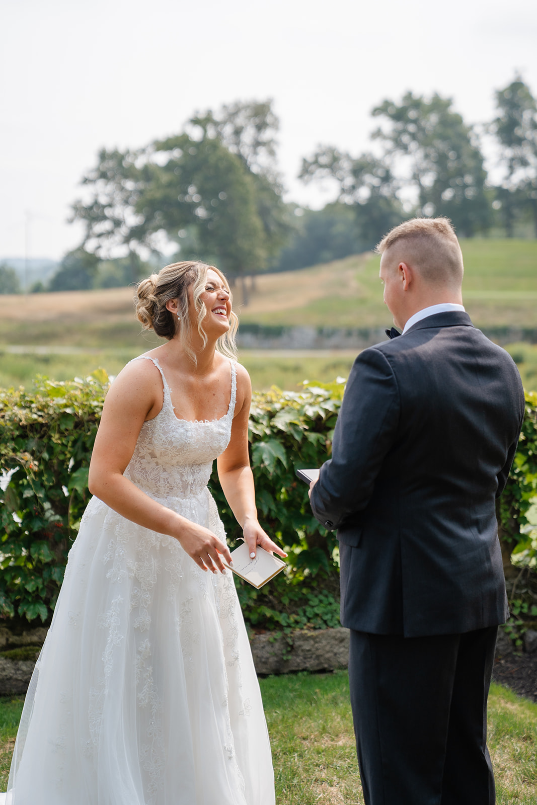
[[(478, 327), (537, 328), (537, 241), (463, 240), (465, 305)], [(250, 303), (235, 307), (245, 324), (330, 328), (385, 327), (379, 258), (371, 254), (256, 279)], [(56, 380), (101, 366), (115, 375), (160, 341), (134, 318), (132, 288), (0, 295), (0, 386), (28, 385), (36, 374)], [(27, 353), (6, 348), (26, 347)], [(54, 348), (54, 349), (52, 349)], [(55, 351), (57, 350), (57, 351)], [(527, 387), (537, 385), (537, 349), (517, 351)], [(346, 377), (353, 353), (250, 353), (240, 360), (254, 389), (292, 390), (304, 380)]]

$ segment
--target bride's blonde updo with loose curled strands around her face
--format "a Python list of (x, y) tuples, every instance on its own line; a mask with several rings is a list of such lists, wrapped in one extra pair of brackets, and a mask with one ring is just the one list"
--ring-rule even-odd
[[(167, 338), (168, 341), (171, 341), (175, 336), (179, 336), (179, 341), (184, 351), (194, 363), (196, 363), (196, 354), (192, 349), (192, 326), (188, 318), (188, 288), (192, 286), (192, 297), (197, 311), (197, 331), (205, 346), (207, 344), (207, 334), (203, 328), (203, 321), (207, 315), (207, 308), (201, 299), (201, 295), (205, 290), (209, 268), (220, 277), (225, 290), (229, 294), (229, 301), (232, 302), (233, 296), (229, 283), (221, 270), (217, 269), (216, 266), (208, 266), (206, 263), (196, 260), (172, 262), (169, 266), (164, 266), (158, 274), (151, 274), (150, 277), (138, 283), (136, 295), (134, 296), (136, 316), (142, 322), (144, 330), (152, 329), (157, 336)], [(171, 299), (177, 299), (180, 318), (171, 313), (166, 307), (167, 302)], [(235, 344), (237, 329), (238, 318), (232, 310), (229, 316), (229, 330), (218, 339), (217, 350), (233, 361), (237, 358), (237, 346)]]

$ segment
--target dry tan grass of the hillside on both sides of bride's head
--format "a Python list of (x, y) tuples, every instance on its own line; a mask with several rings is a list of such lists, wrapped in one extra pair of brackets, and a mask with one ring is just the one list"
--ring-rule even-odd
[[(361, 281), (369, 258), (368, 253), (309, 269), (260, 275), (247, 306), (237, 285), (233, 291), (235, 308), (245, 322), (339, 327), (349, 326), (348, 316), (340, 323), (329, 312), (327, 316), (324, 308), (337, 310), (349, 299), (368, 299), (370, 324), (360, 326), (374, 326), (386, 316), (378, 276), (374, 278), (376, 300), (371, 299), (367, 287), (369, 274), (366, 284)], [(134, 346), (140, 341), (142, 328), (134, 317), (133, 295), (132, 288), (0, 295), (0, 345)], [(144, 338), (152, 344), (151, 335), (145, 333)]]

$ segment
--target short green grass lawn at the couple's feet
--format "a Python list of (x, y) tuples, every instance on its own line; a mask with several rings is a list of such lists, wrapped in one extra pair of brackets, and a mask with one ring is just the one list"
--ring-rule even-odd
[[(261, 679), (278, 805), (362, 805), (346, 671)], [(0, 791), (22, 699), (0, 700)], [(537, 803), (537, 705), (493, 685), (489, 751), (498, 805)]]

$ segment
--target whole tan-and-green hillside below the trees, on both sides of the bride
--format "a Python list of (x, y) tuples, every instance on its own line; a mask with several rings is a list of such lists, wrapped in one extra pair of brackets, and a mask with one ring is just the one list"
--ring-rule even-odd
[[(477, 326), (537, 328), (537, 241), (467, 240), (465, 305)], [(242, 322), (330, 328), (390, 324), (378, 279), (379, 258), (362, 254), (312, 268), (261, 275)], [(134, 318), (130, 288), (0, 295), (1, 345), (134, 348), (157, 342)]]

